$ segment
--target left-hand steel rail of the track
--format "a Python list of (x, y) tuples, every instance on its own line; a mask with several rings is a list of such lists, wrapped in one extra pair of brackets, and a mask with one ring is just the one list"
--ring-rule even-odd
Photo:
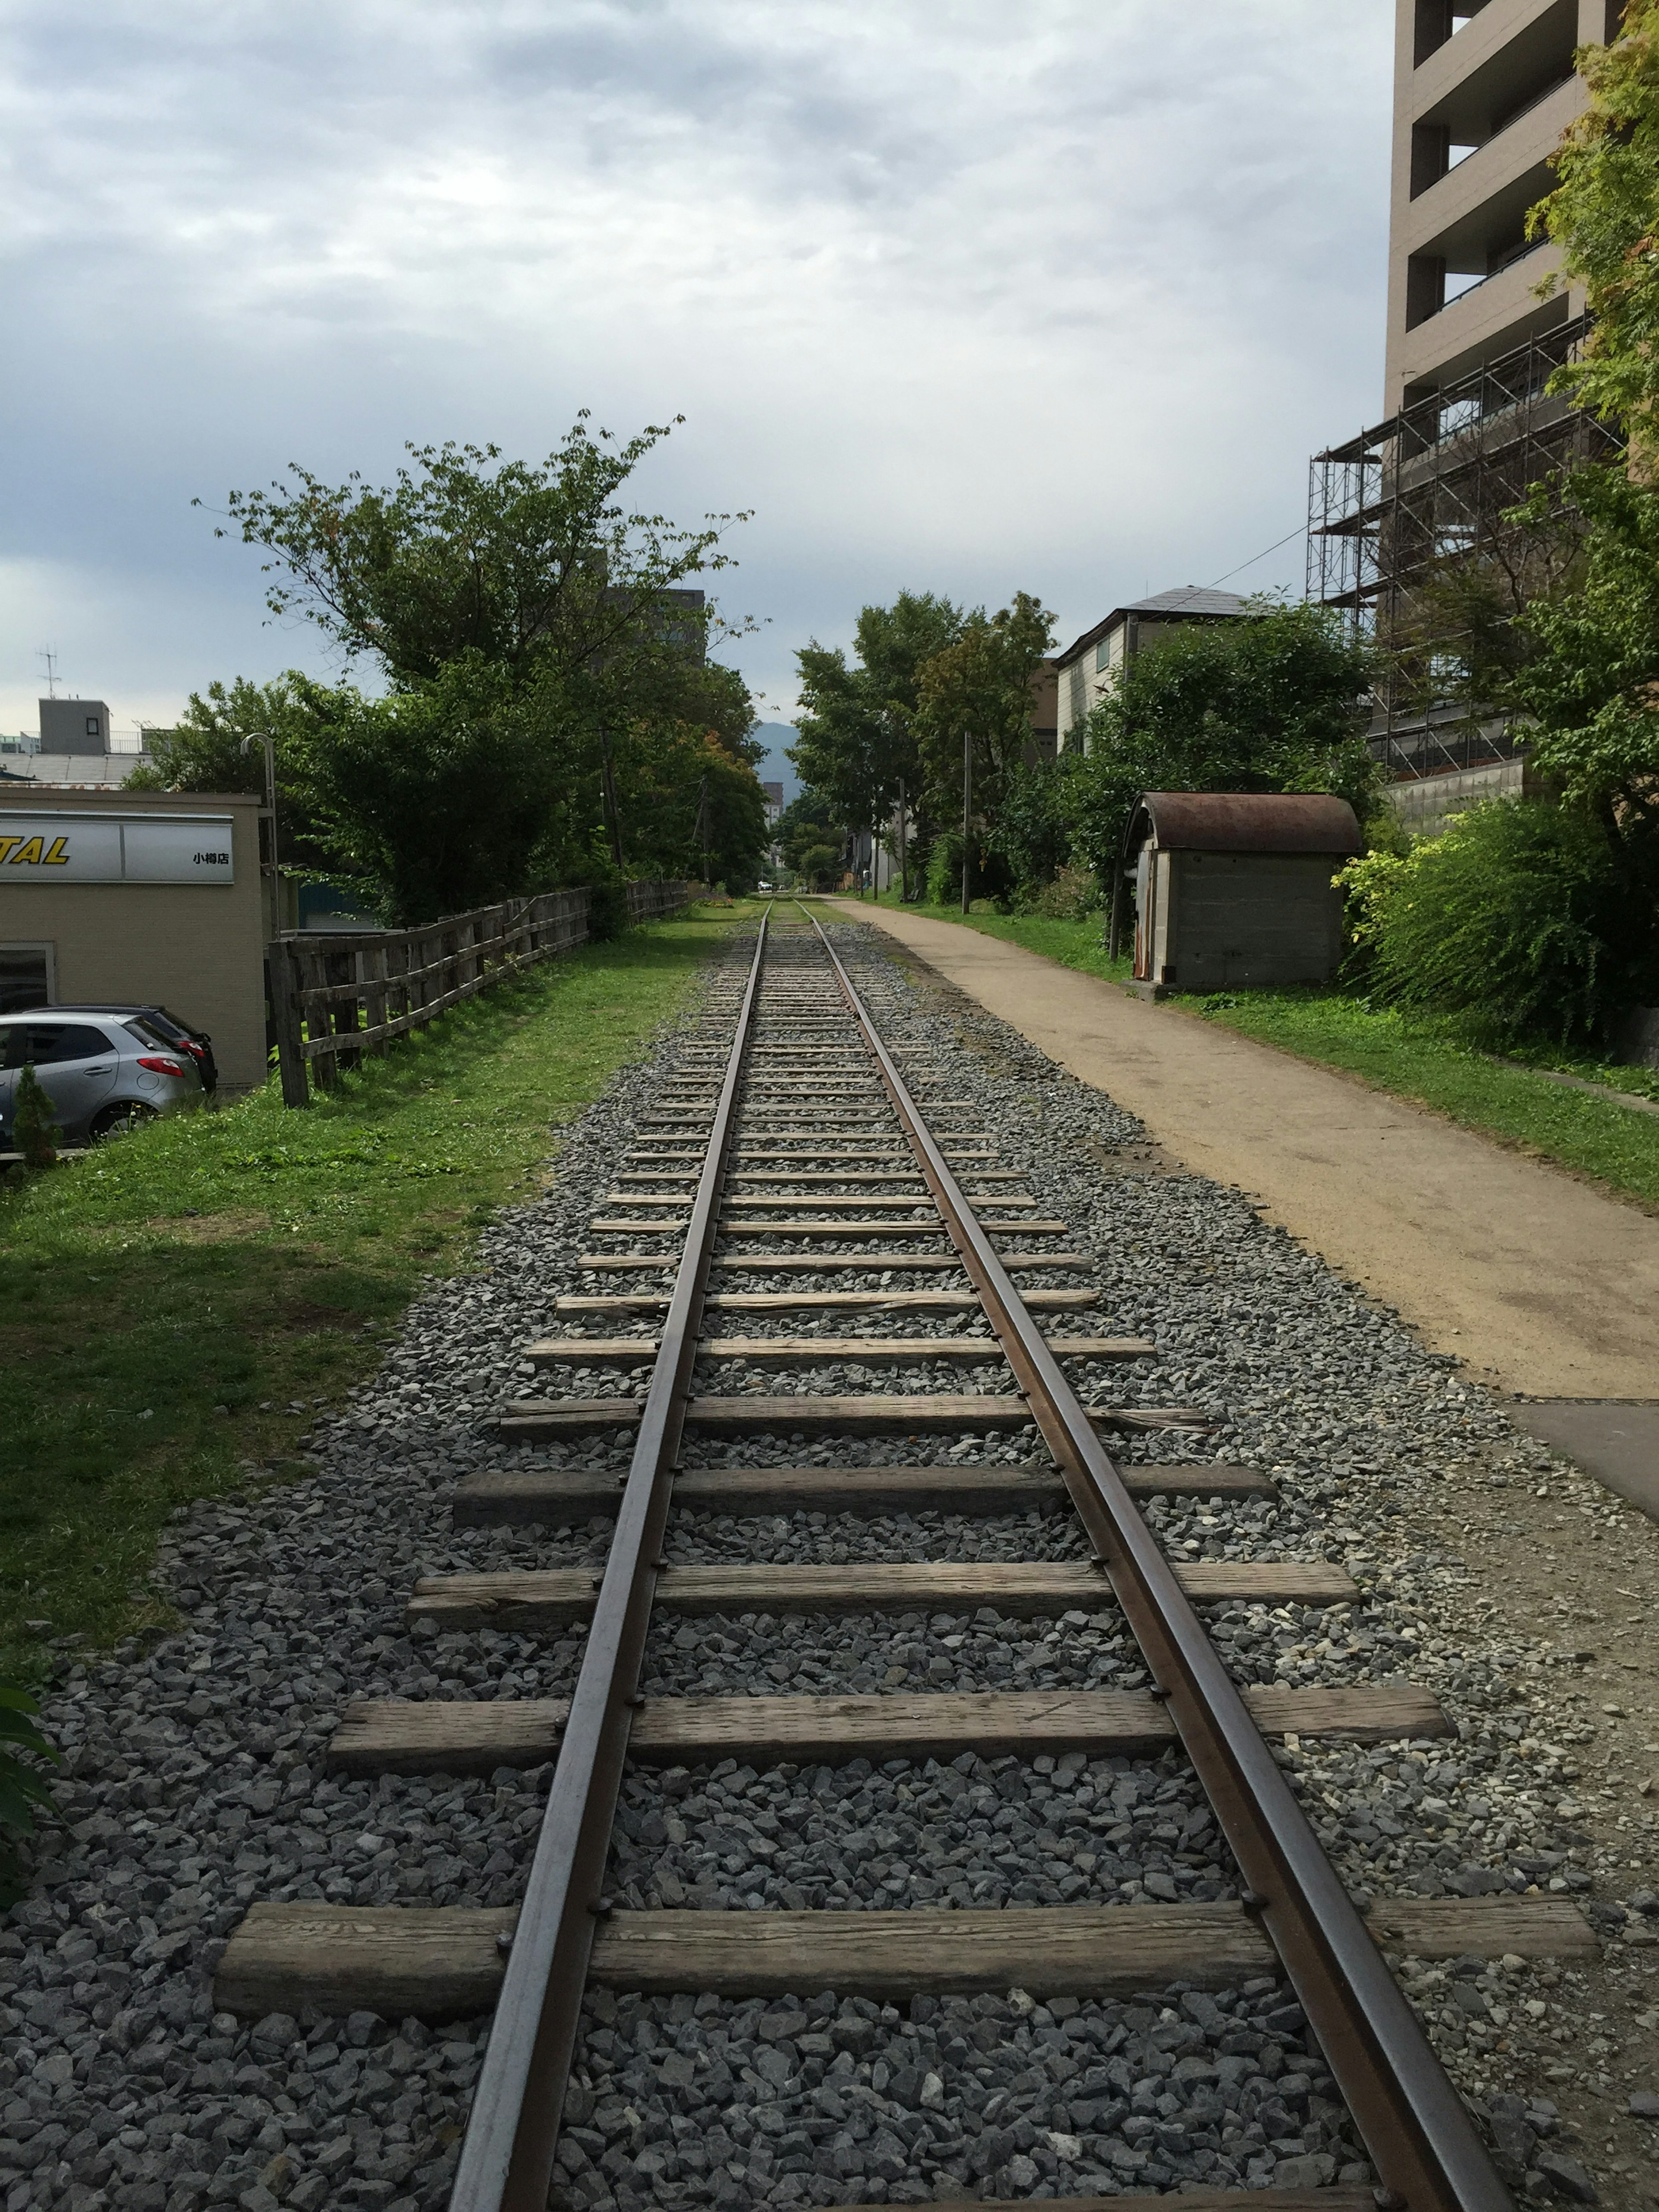
[(451, 2212), (546, 2212), (582, 1989), (595, 1922), (604, 1911), (599, 1885), (628, 1756), (672, 1471), (679, 1460), (708, 1270), (719, 1234), (726, 1152), (737, 1119), (770, 920), (768, 907), (739, 1002), (737, 1031), (686, 1228), (686, 1250), (639, 1416), (639, 1436), (571, 1694), (524, 1905), (507, 1953), (489, 2048), (467, 2115), (467, 2139), (449, 2197)]

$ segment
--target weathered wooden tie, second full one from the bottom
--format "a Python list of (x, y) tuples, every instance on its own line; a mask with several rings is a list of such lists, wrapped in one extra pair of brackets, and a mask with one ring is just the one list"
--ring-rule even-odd
[[(1265, 1736), (1402, 1743), (1455, 1734), (1429, 1690), (1245, 1690)], [(560, 1747), (568, 1699), (358, 1699), (345, 1708), (327, 1763), (343, 1774), (493, 1774), (540, 1767)], [(1148, 1690), (933, 1690), (920, 1697), (648, 1697), (628, 1756), (699, 1761), (982, 1759), (1040, 1752), (1091, 1759), (1161, 1752), (1177, 1741), (1170, 1708)]]

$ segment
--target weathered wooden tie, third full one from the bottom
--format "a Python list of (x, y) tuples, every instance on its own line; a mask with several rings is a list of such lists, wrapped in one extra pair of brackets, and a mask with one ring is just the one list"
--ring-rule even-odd
[[(1360, 1593), (1325, 1559), (1194, 1559), (1175, 1564), (1175, 1579), (1194, 1604), (1347, 1606)], [(425, 1575), (405, 1619), (440, 1628), (498, 1628), (504, 1635), (575, 1628), (593, 1613), (591, 1568), (549, 1566), (498, 1575)], [(1002, 1619), (1060, 1619), (1062, 1613), (1115, 1610), (1117, 1597), (1099, 1568), (1068, 1559), (927, 1559), (858, 1566), (668, 1566), (657, 1582), (664, 1613), (856, 1615), (949, 1613), (967, 1617), (989, 1606)]]

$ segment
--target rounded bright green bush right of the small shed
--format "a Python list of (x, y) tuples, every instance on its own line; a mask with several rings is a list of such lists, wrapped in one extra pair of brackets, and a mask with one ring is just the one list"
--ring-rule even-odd
[(1464, 1013), (1493, 1040), (1606, 1033), (1652, 973), (1652, 900), (1588, 814), (1495, 799), (1338, 883), (1374, 993)]

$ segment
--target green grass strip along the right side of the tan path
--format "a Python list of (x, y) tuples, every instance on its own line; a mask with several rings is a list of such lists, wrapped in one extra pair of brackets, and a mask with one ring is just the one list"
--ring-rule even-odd
[[(896, 907), (898, 898), (883, 894), (880, 905)], [(1106, 958), (1099, 916), (1053, 922), (1035, 914), (998, 914), (989, 900), (975, 902), (969, 916), (949, 905), (907, 911), (1024, 945), (1026, 951), (1108, 982), (1121, 982), (1130, 969), (1128, 956)], [(1464, 1128), (1553, 1159), (1659, 1210), (1659, 1115), (1573, 1091), (1542, 1073), (1555, 1068), (1639, 1097), (1659, 1097), (1659, 1077), (1648, 1068), (1615, 1068), (1546, 1048), (1493, 1060), (1455, 1022), (1407, 1020), (1334, 989), (1219, 991), (1208, 998), (1177, 995), (1166, 1004), (1274, 1044), (1298, 1060), (1343, 1068), (1378, 1091), (1394, 1091)]]

